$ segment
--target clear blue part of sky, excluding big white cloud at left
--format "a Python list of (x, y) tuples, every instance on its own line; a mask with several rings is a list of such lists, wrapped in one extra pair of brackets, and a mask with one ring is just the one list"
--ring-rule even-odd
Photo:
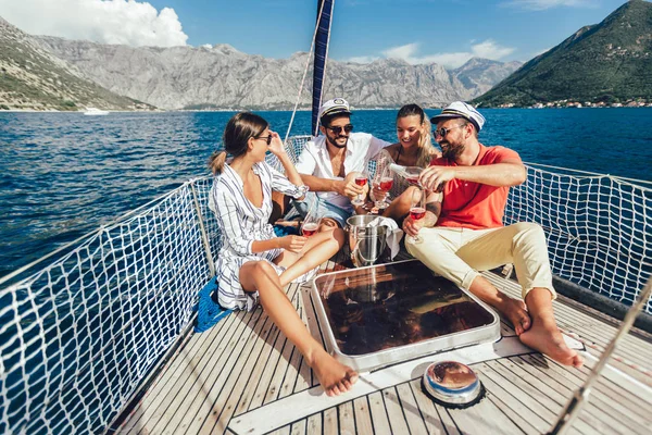
[[(247, 53), (273, 58), (308, 51), (317, 3), (150, 2), (159, 9), (170, 7), (176, 11), (190, 45), (226, 42)], [(474, 46), (490, 40), (499, 55), (513, 50), (501, 60), (526, 61), (581, 26), (601, 22), (623, 3), (624, 0), (336, 0), (330, 57), (383, 58), (392, 48), (414, 45), (412, 57), (427, 58), (474, 52)], [(491, 52), (491, 46), (485, 47)]]

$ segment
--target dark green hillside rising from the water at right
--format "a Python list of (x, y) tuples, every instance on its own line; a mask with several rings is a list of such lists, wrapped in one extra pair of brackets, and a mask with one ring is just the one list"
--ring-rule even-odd
[(652, 102), (651, 72), (652, 3), (631, 0), (527, 62), (474, 103)]

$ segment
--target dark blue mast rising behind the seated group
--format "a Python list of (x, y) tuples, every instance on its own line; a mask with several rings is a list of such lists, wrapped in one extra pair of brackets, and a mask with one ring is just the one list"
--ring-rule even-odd
[(322, 105), (322, 91), (326, 74), (326, 59), (328, 58), (328, 41), (330, 35), (330, 18), (335, 0), (317, 0), (317, 32), (315, 33), (315, 55), (313, 63), (313, 105), (312, 105), (312, 134), (317, 135), (319, 120), (319, 105)]

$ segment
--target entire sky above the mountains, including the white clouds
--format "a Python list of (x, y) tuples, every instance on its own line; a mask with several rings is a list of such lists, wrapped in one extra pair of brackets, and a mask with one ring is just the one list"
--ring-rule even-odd
[[(449, 67), (473, 55), (527, 61), (624, 2), (336, 0), (329, 54)], [(32, 34), (106, 44), (228, 44), (268, 58), (308, 51), (315, 14), (316, 0), (0, 0), (0, 16)]]

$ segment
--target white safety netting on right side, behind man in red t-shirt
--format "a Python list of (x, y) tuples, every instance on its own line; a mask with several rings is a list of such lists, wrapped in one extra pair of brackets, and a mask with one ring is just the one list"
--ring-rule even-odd
[[(527, 164), (510, 190), (505, 224), (546, 231), (552, 271), (630, 306), (652, 274), (652, 189), (628, 181)], [(652, 313), (648, 302), (645, 311)]]

